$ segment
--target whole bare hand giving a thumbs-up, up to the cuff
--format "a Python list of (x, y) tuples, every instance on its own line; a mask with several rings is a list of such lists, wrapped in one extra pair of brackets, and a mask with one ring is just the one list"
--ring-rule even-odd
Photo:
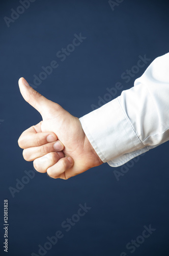
[[(68, 179), (103, 163), (77, 117), (36, 92), (24, 78), (19, 79), (19, 89), (25, 101), (43, 119), (23, 132), (18, 140), (19, 146), (24, 149), (24, 159), (34, 160), (34, 167), (38, 172), (47, 172), (52, 178)], [(53, 135), (53, 142), (58, 137), (57, 142), (61, 143), (60, 150), (63, 153), (53, 149), (54, 143), (48, 143), (48, 135)]]

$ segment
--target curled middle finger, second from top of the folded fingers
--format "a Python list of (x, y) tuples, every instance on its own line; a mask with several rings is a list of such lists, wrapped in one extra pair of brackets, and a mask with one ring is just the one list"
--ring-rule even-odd
[(63, 149), (64, 145), (60, 140), (57, 140), (56, 142), (50, 142), (42, 146), (25, 148), (23, 150), (23, 158), (30, 162), (48, 153), (62, 151)]

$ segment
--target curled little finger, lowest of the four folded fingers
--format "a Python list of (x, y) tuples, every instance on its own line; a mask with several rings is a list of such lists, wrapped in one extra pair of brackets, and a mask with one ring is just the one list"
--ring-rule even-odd
[(71, 157), (61, 158), (56, 164), (47, 169), (47, 174), (53, 179), (60, 178), (60, 176), (64, 174), (66, 170), (73, 166), (73, 163), (74, 162)]

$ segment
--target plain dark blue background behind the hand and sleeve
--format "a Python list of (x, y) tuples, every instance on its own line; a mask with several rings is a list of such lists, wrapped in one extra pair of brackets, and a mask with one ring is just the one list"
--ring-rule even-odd
[[(146, 153), (117, 181), (108, 164), (88, 170), (67, 181), (36, 173), (12, 198), (24, 170), (33, 164), (22, 158), (17, 140), (28, 127), (41, 120), (39, 113), (21, 97), (18, 79), (33, 84), (51, 60), (58, 60), (37, 90), (80, 117), (92, 111), (106, 88), (116, 82), (124, 90), (133, 86), (148, 65), (129, 83), (121, 79), (136, 65), (138, 56), (152, 60), (168, 52), (168, 1), (124, 0), (112, 11), (105, 0), (40, 1), (31, 3), (8, 28), (19, 1), (2, 1), (1, 13), (1, 255), (3, 251), (3, 205), (9, 200), (10, 256), (38, 254), (47, 236), (62, 230), (64, 238), (52, 247), (50, 256), (168, 256), (168, 142)], [(56, 53), (71, 44), (74, 33), (87, 37), (65, 61)], [(118, 95), (121, 91), (118, 92)], [(116, 168), (121, 171), (121, 167)], [(66, 232), (61, 223), (77, 213), (79, 204), (91, 210)], [(125, 248), (152, 225), (156, 231), (134, 253)]]

